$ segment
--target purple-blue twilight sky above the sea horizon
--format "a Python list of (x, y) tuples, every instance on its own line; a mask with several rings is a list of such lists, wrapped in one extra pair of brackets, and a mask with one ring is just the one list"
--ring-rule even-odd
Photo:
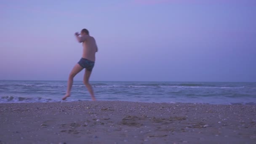
[[(0, 80), (256, 82), (256, 0), (1, 0)], [(84, 71), (74, 80), (83, 80)]]

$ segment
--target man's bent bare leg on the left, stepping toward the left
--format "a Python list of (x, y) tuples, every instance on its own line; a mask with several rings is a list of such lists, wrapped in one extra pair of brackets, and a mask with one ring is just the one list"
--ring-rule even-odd
[(69, 74), (69, 79), (67, 81), (67, 93), (66, 95), (62, 98), (62, 100), (67, 99), (67, 97), (70, 96), (71, 94), (71, 88), (73, 85), (73, 79), (75, 77), (75, 75), (77, 75), (79, 72), (81, 72), (81, 70), (83, 69), (83, 67), (81, 67), (79, 64), (76, 64), (75, 67), (72, 69), (72, 71)]

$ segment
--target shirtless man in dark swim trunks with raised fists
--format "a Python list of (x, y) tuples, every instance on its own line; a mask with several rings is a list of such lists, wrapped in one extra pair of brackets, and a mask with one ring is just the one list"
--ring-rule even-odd
[[(80, 35), (80, 36), (79, 36)], [(95, 61), (95, 53), (98, 51), (98, 47), (96, 45), (96, 41), (94, 37), (91, 37), (89, 35), (89, 32), (87, 29), (82, 29), (81, 34), (78, 34), (78, 32), (75, 33), (75, 37), (77, 38), (77, 41), (79, 43), (83, 43), (83, 55), (80, 61), (75, 65), (75, 67), (72, 69), (72, 71), (69, 74), (69, 79), (67, 82), (67, 93), (62, 98), (62, 100), (67, 99), (71, 95), (71, 88), (73, 85), (73, 78), (77, 73), (81, 72), (85, 68), (85, 74), (83, 77), (83, 83), (87, 87), (89, 93), (91, 94), (91, 98), (93, 101), (96, 101), (93, 93), (93, 88), (91, 87), (89, 83), (89, 78), (94, 66)]]

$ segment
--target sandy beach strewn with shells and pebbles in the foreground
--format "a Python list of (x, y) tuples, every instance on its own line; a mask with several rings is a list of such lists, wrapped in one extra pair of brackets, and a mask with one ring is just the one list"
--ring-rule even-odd
[(256, 144), (256, 106), (0, 104), (0, 129), (0, 144)]

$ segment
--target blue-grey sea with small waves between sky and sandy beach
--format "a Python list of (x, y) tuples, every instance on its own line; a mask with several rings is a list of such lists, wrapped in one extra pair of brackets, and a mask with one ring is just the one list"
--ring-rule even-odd
[[(256, 105), (256, 83), (91, 81), (99, 101)], [(67, 81), (0, 80), (0, 103), (60, 102)], [(91, 101), (74, 81), (66, 101)], [(64, 101), (65, 102), (65, 101)]]

